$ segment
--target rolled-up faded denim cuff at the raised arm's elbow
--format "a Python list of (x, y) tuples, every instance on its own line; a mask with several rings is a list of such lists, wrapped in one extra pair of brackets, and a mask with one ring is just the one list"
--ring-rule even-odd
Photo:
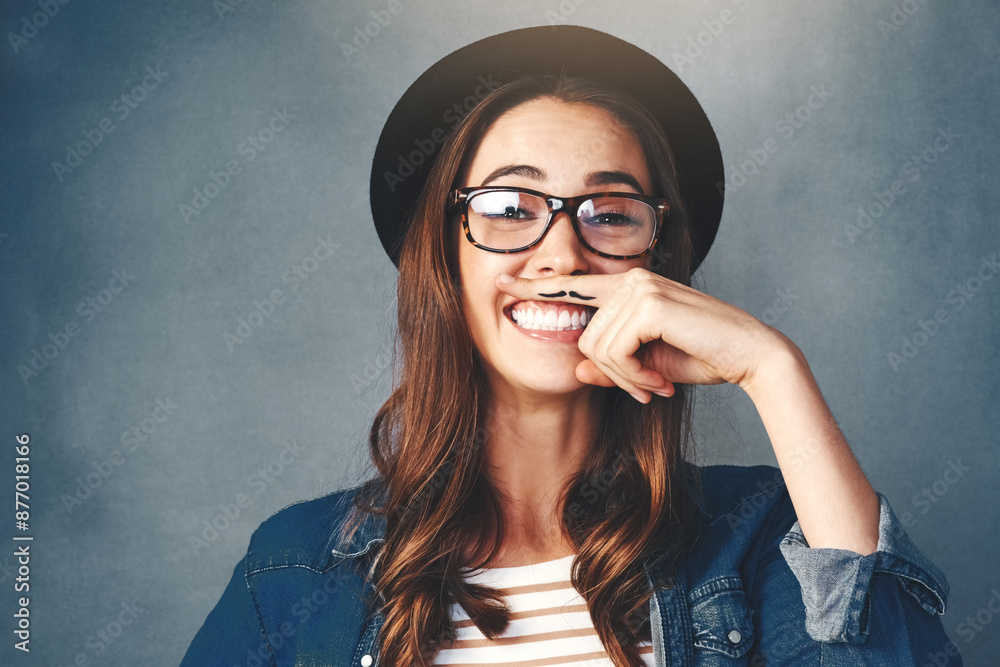
[(944, 573), (910, 541), (885, 496), (878, 498), (878, 547), (872, 554), (812, 549), (798, 521), (781, 541), (781, 553), (802, 588), (806, 631), (815, 641), (868, 641), (873, 577), (893, 577), (928, 614), (945, 611), (949, 588)]

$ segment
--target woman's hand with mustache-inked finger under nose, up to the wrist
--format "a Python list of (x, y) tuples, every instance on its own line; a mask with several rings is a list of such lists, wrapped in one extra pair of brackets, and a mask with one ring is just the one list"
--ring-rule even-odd
[(509, 283), (498, 277), (496, 285), (521, 299), (561, 292), (560, 301), (596, 306), (579, 340), (587, 359), (577, 378), (618, 385), (644, 403), (651, 393), (672, 395), (675, 382), (746, 390), (768, 358), (794, 347), (746, 311), (645, 269)]

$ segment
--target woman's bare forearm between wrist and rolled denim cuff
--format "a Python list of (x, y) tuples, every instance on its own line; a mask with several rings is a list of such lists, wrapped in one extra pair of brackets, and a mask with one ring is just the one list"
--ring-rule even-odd
[(809, 546), (874, 552), (878, 497), (801, 351), (781, 336), (743, 388), (767, 430)]

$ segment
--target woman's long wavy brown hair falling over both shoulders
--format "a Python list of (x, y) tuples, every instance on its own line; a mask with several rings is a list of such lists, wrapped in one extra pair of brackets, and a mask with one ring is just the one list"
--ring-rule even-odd
[[(454, 637), (457, 602), (487, 637), (509, 610), (499, 591), (467, 583), (463, 568), (488, 566), (503, 543), (500, 489), (484, 466), (490, 438), (489, 386), (461, 305), (446, 202), (478, 141), (504, 112), (539, 97), (604, 108), (645, 153), (655, 193), (671, 202), (651, 270), (690, 284), (691, 226), (663, 132), (639, 103), (586, 79), (530, 76), (492, 91), (445, 141), (412, 215), (399, 261), (395, 389), (375, 416), (369, 444), (378, 476), (356, 497), (382, 515), (385, 541), (371, 576), (382, 597), (381, 661), (429, 665)], [(595, 141), (600, 141), (599, 137)], [(669, 249), (669, 256), (662, 252)], [(624, 391), (595, 387), (603, 406), (582, 470), (562, 489), (563, 530), (576, 547), (572, 580), (598, 636), (619, 667), (643, 664), (651, 591), (643, 563), (664, 572), (694, 539), (684, 475), (690, 395), (641, 405)], [(374, 602), (374, 601), (373, 601)]]

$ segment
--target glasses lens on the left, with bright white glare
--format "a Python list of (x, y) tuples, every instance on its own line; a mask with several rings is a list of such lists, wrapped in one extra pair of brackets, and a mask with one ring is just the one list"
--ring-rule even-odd
[(523, 192), (478, 192), (468, 203), (472, 238), (494, 250), (513, 250), (532, 243), (549, 217), (544, 199)]

